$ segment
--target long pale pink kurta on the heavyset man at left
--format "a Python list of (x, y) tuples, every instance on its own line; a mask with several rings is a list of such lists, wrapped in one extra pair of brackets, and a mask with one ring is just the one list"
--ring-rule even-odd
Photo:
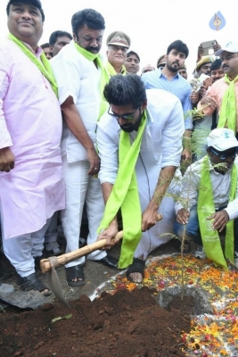
[(4, 238), (35, 232), (64, 208), (61, 137), (61, 109), (50, 83), (15, 43), (4, 40), (0, 148), (10, 146), (15, 157), (14, 169), (0, 172)]

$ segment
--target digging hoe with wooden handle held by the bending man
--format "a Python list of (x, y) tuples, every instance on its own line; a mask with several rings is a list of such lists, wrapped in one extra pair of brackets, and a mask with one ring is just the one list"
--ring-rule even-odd
[[(162, 220), (162, 215), (157, 214), (157, 220)], [(123, 237), (123, 230), (114, 237), (114, 240), (119, 240)], [(98, 249), (102, 249), (106, 245), (106, 239), (100, 239), (91, 245), (86, 245), (76, 251), (59, 255), (58, 257), (49, 257), (40, 261), (40, 268), (43, 273), (47, 274), (47, 280), (53, 294), (66, 306), (70, 307), (62, 294), (62, 286), (56, 268), (67, 264), (68, 262), (75, 261), (76, 259), (88, 255)]]

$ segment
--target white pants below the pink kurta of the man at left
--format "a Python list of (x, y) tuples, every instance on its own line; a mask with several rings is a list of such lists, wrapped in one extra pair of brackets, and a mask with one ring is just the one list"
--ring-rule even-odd
[(22, 278), (28, 277), (35, 272), (33, 257), (42, 255), (45, 232), (50, 221), (51, 219), (46, 220), (45, 226), (37, 230), (37, 232), (9, 239), (4, 239), (3, 229), (4, 254)]

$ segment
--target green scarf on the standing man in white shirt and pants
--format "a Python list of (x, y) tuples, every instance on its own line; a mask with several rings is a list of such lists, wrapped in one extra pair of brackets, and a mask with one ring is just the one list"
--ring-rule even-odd
[(96, 61), (97, 66), (102, 71), (102, 75), (101, 75), (101, 79), (100, 79), (100, 94), (101, 94), (102, 100), (101, 100), (99, 117), (98, 117), (98, 120), (100, 120), (103, 113), (107, 111), (108, 106), (109, 106), (109, 104), (107, 103), (107, 101), (104, 98), (103, 90), (104, 90), (105, 85), (109, 82), (110, 75), (109, 75), (108, 71), (106, 70), (99, 54), (92, 54), (91, 52), (86, 51), (85, 48), (78, 46), (78, 44), (76, 42), (75, 42), (75, 47), (76, 47), (77, 51), (79, 52), (79, 54), (82, 54), (88, 61)]

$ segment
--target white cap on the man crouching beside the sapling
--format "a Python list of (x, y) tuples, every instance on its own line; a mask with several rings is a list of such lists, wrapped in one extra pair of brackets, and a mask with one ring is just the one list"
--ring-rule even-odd
[(218, 151), (225, 151), (232, 147), (238, 147), (238, 141), (234, 136), (234, 130), (231, 129), (214, 129), (209, 133), (207, 140), (208, 146), (212, 146)]

